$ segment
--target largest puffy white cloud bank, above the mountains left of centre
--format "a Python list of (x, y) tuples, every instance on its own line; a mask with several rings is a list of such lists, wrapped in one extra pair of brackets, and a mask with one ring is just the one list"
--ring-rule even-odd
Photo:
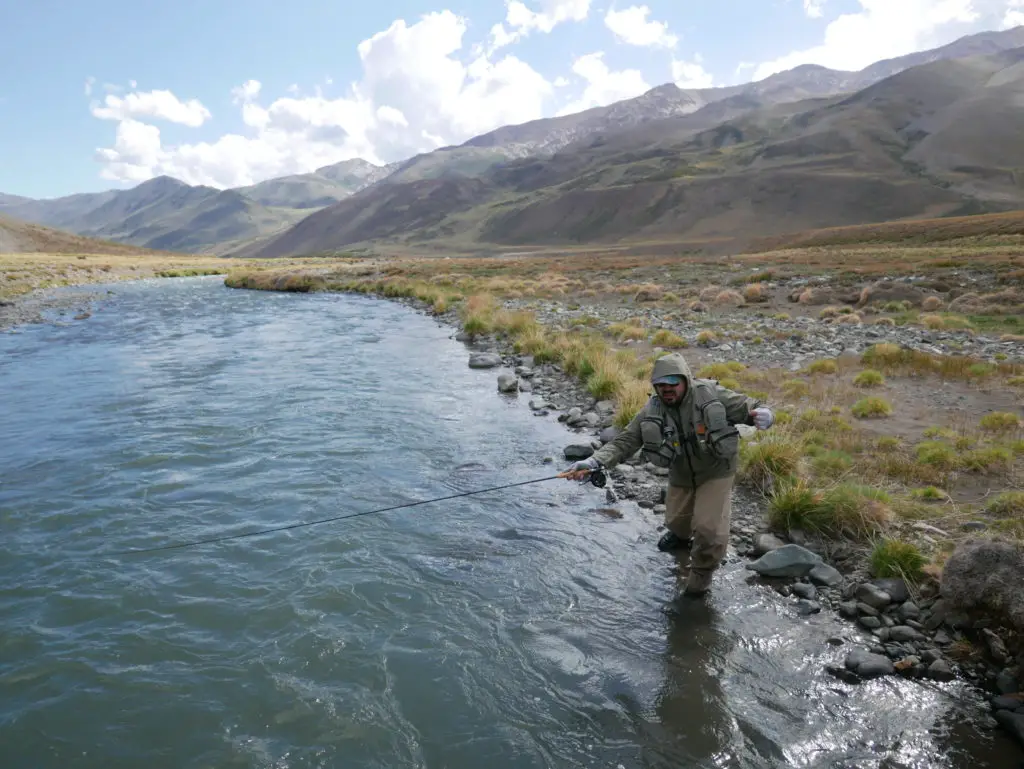
[[(166, 109), (157, 111), (152, 99), (132, 99), (141, 94), (108, 97), (106, 106), (93, 114), (121, 122), (114, 146), (97, 152), (103, 175), (138, 181), (168, 174), (193, 184), (241, 186), (349, 158), (404, 159), (544, 117), (554, 86), (512, 55), (460, 57), (466, 27), (451, 11), (426, 14), (412, 25), (393, 23), (358, 45), (362, 77), (337, 98), (318, 88), (300, 95), (295, 86), (289, 95), (264, 99), (262, 84), (246, 81), (230, 93), (246, 130), (209, 142), (163, 144), (157, 128), (136, 120), (168, 113), (184, 117), (170, 105), (187, 110), (193, 102), (154, 92), (167, 94), (160, 101)], [(197, 125), (203, 115), (187, 114)]]

